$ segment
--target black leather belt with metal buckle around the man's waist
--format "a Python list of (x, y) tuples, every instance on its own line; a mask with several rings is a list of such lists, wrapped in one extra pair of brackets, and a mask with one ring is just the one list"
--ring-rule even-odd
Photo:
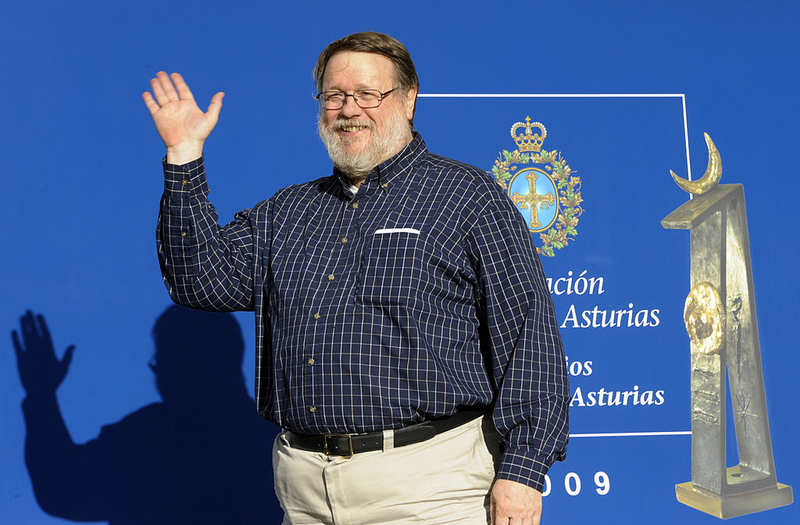
[[(404, 447), (426, 441), (436, 434), (441, 434), (463, 425), (487, 413), (485, 407), (464, 408), (442, 419), (423, 421), (394, 431), (394, 446)], [(364, 434), (298, 434), (287, 431), (289, 445), (300, 450), (322, 452), (328, 456), (349, 458), (359, 452), (383, 450), (383, 432), (367, 432)]]

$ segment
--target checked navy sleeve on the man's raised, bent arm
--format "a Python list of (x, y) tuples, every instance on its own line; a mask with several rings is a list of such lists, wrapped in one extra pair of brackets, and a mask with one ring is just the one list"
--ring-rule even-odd
[(253, 309), (250, 210), (222, 227), (208, 201), (203, 159), (164, 159), (164, 195), (156, 228), (161, 273), (173, 301), (213, 311)]

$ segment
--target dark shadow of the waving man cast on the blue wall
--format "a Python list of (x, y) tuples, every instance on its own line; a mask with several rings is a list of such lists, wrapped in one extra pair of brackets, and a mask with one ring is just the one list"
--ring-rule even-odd
[(153, 338), (150, 367), (162, 401), (76, 445), (55, 395), (74, 347), (59, 360), (44, 317), (21, 318), (12, 339), (27, 393), (25, 461), (39, 505), (111, 525), (280, 523), (271, 462), (278, 429), (258, 416), (247, 393), (236, 319), (171, 306)]

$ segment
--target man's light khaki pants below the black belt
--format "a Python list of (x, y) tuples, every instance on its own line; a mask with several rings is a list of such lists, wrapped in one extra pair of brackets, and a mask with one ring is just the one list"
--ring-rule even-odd
[(289, 446), (281, 434), (272, 461), (284, 525), (488, 523), (489, 490), (499, 457), (489, 418), (422, 443), (352, 458)]

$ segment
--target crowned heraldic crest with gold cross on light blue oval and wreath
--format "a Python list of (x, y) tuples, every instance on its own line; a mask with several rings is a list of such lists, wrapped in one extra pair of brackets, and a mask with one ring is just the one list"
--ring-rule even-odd
[(542, 149), (547, 129), (540, 122), (525, 117), (511, 126), (511, 137), (517, 149), (500, 153), (492, 176), (522, 212), (531, 235), (538, 234), (539, 253), (553, 257), (578, 235), (581, 179), (559, 151)]

